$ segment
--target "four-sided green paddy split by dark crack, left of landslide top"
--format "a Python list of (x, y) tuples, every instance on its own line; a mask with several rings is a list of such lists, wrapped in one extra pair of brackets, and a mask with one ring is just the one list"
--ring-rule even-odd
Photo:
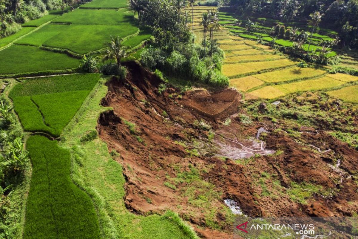
[(59, 136), (99, 80), (98, 74), (33, 78), (10, 92), (25, 130)]

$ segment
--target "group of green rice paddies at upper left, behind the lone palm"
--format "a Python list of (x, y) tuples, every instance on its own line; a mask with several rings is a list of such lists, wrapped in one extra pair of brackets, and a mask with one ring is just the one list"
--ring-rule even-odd
[[(89, 9), (76, 9), (62, 16), (46, 15), (23, 24), (26, 27), (17, 34), (0, 39), (0, 48), (14, 40), (17, 45), (0, 50), (0, 75), (70, 70), (79, 66), (79, 60), (56, 53), (57, 49), (86, 54), (107, 47), (111, 37), (124, 38), (128, 47), (136, 47), (151, 37), (148, 29), (139, 31), (133, 13), (124, 8), (127, 1), (95, 0), (88, 4), (96, 7), (91, 9), (85, 4)], [(51, 20), (53, 23), (43, 25)], [(55, 52), (50, 48), (56, 48)], [(10, 59), (6, 67), (5, 59)]]

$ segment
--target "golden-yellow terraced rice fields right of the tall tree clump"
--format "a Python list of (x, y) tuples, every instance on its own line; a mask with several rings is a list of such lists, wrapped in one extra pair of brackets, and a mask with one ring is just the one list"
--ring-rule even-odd
[[(197, 35), (196, 42), (198, 43), (203, 40), (203, 29), (199, 27), (198, 21), (202, 13), (212, 8), (197, 7), (194, 10), (194, 33)], [(231, 78), (230, 86), (247, 92), (246, 99), (276, 99), (295, 92), (329, 90), (347, 82), (358, 81), (356, 76), (341, 73), (327, 74), (326, 71), (320, 69), (296, 67), (297, 62), (285, 56), (268, 54), (274, 52), (270, 46), (231, 35), (227, 29), (215, 31), (214, 38), (218, 40), (220, 48), (225, 52), (226, 58), (222, 72)], [(260, 73), (260, 71), (267, 72)], [(238, 78), (245, 75), (246, 77)], [(287, 83), (286, 81), (293, 82)], [(344, 101), (358, 103), (358, 85), (327, 93)]]

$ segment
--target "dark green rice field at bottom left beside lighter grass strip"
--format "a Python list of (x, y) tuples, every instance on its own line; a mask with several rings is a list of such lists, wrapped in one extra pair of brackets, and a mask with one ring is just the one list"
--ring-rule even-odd
[(69, 151), (43, 136), (30, 136), (26, 148), (33, 173), (24, 238), (100, 238), (91, 200), (71, 181)]

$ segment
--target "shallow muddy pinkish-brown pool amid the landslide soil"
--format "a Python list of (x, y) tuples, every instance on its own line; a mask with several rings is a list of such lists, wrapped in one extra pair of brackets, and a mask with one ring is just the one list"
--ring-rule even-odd
[(218, 136), (214, 142), (218, 145), (219, 153), (216, 156), (227, 157), (231, 159), (250, 158), (255, 154), (267, 155), (275, 153), (275, 150), (265, 149), (265, 142), (251, 138), (238, 140)]

